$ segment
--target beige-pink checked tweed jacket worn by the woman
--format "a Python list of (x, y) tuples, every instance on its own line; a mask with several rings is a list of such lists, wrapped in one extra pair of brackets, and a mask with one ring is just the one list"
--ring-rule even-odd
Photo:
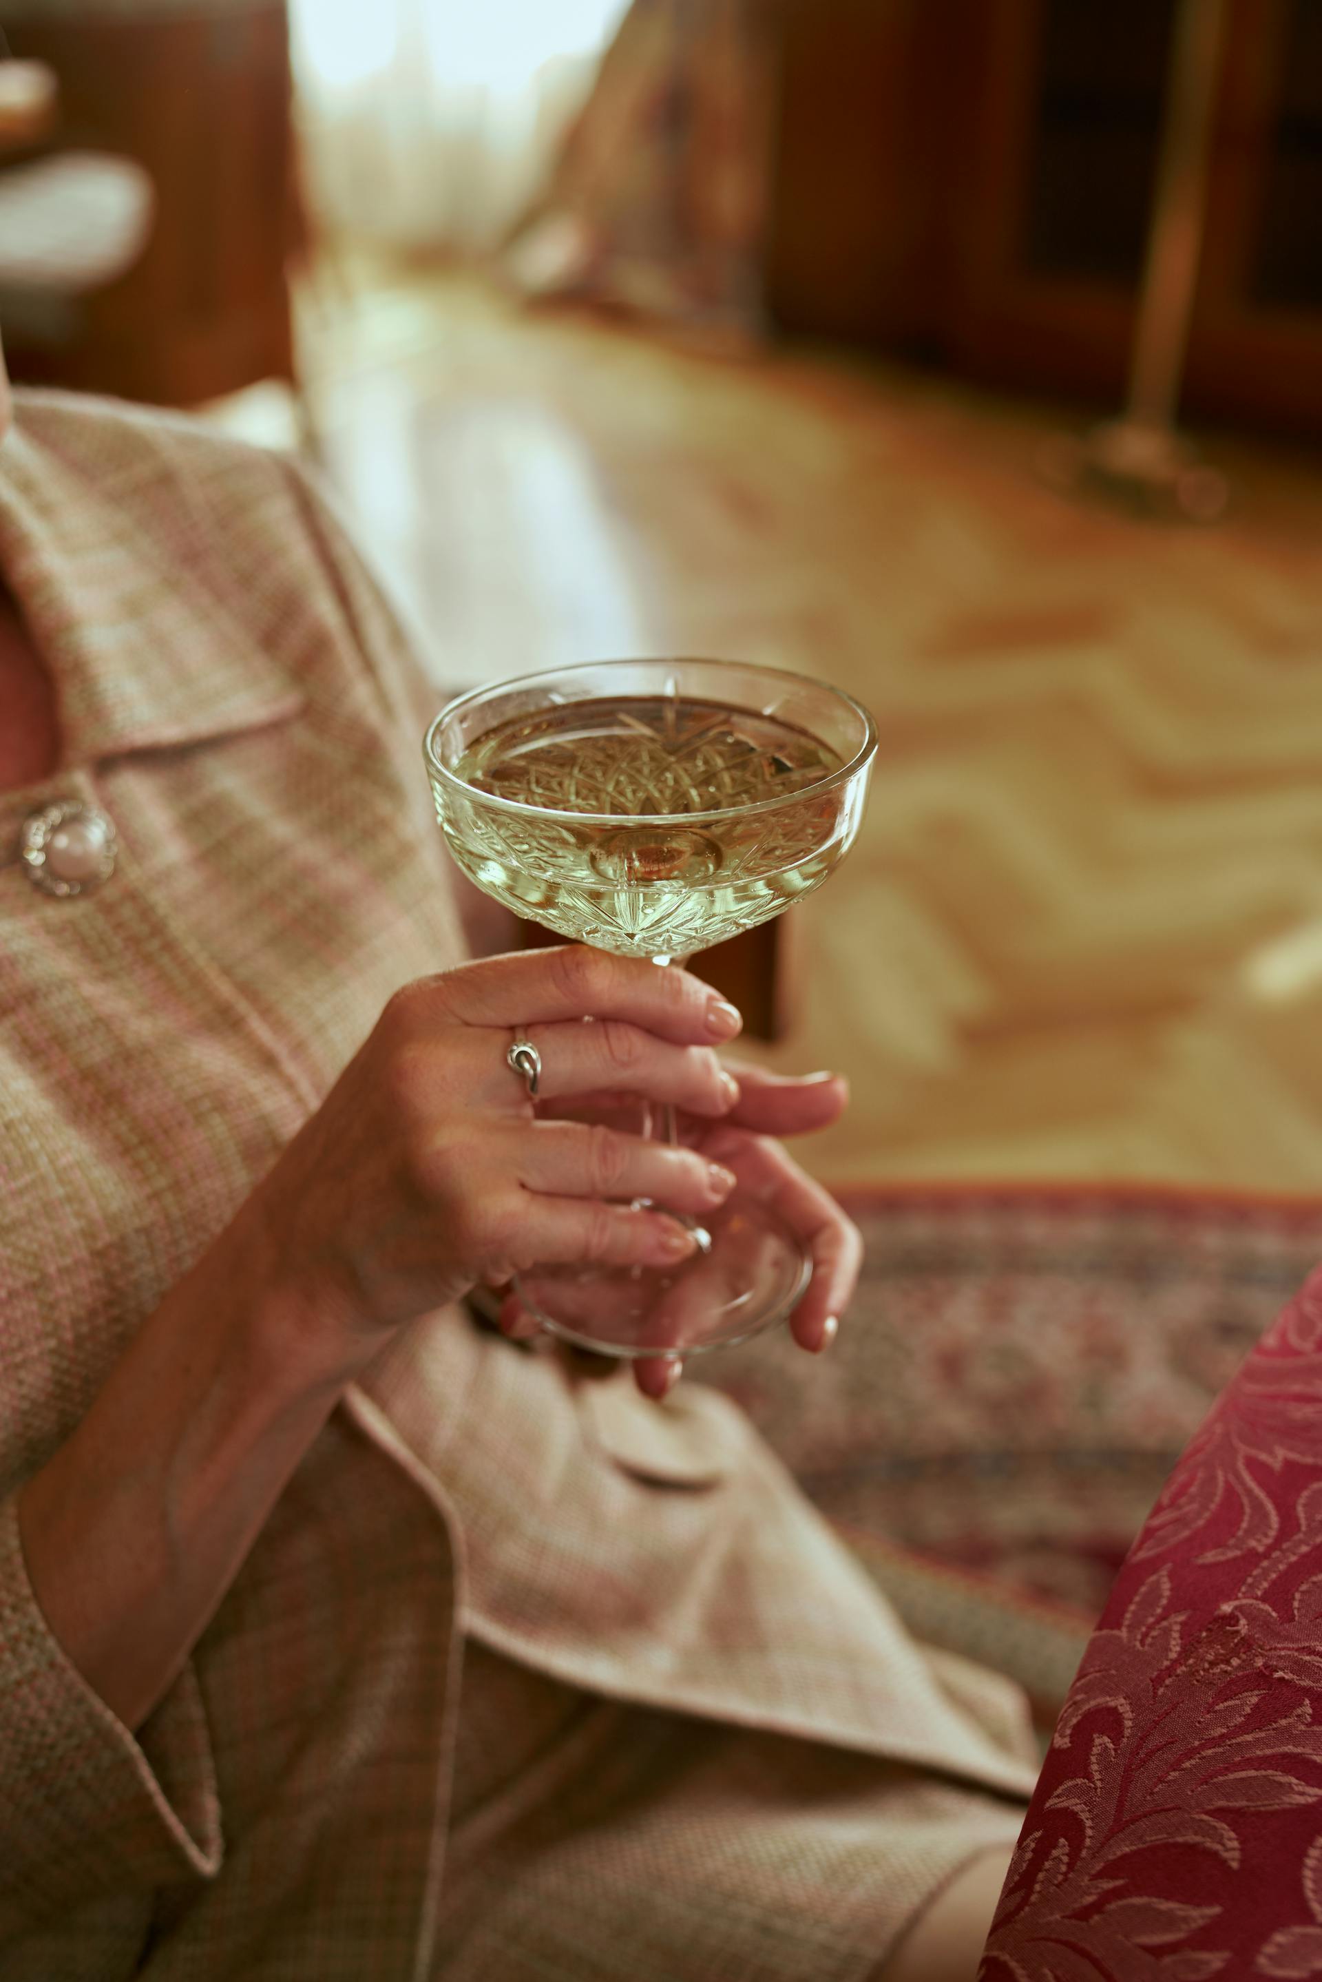
[[(65, 739), (0, 793), (0, 1974), (430, 1974), (466, 1641), (1027, 1794), (733, 1405), (579, 1387), (458, 1312), (347, 1395), (137, 1738), (83, 1685), (16, 1490), (460, 937), (412, 664), (289, 462), (20, 396), (0, 567)], [(77, 900), (16, 860), (57, 797), (119, 830)]]

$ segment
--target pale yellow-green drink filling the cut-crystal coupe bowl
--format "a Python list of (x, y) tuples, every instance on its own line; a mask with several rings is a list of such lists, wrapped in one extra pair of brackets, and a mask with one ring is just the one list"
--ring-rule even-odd
[(692, 955), (830, 874), (858, 795), (813, 787), (838, 767), (807, 729), (753, 710), (539, 704), (468, 745), (454, 769), (472, 799), (436, 787), (436, 811), (460, 866), (515, 914), (622, 955)]

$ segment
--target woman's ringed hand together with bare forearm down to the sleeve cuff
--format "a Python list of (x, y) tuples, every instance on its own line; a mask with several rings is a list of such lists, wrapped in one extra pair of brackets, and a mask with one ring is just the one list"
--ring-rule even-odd
[(22, 1488), (38, 1603), (125, 1726), (165, 1697), (343, 1385), (394, 1328), (525, 1265), (674, 1261), (688, 1235), (628, 1199), (702, 1215), (725, 1197), (704, 1150), (539, 1122), (505, 1064), (515, 1027), (563, 1106), (626, 1082), (716, 1124), (733, 1100), (712, 1046), (739, 1015), (686, 971), (543, 949), (390, 1001)]

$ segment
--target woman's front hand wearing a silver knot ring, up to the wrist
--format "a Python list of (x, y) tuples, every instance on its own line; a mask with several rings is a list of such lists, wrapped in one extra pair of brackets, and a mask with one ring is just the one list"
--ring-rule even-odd
[[(712, 1048), (739, 1015), (688, 971), (561, 947), (406, 985), (244, 1213), (313, 1366), (361, 1366), (478, 1280), (676, 1265), (694, 1241), (664, 1213), (727, 1197), (716, 1148), (535, 1112), (505, 1062), (515, 1029), (559, 1110), (628, 1088), (714, 1126), (737, 1098)], [(658, 1209), (634, 1209), (640, 1197)]]

